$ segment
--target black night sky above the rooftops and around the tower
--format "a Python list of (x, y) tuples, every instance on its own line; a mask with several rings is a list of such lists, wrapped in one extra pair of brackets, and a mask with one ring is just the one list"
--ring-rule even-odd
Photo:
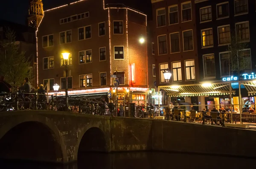
[[(26, 24), (29, 10), (29, 0), (1, 0), (0, 19)], [(67, 4), (77, 0), (43, 0), (44, 10)], [(123, 3), (143, 11), (151, 18), (151, 0), (108, 0), (109, 3)]]

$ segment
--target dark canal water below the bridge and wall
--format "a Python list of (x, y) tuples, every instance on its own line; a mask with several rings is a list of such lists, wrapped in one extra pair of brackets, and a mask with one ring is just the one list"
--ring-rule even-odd
[(255, 159), (165, 152), (83, 153), (78, 163), (0, 161), (1, 169), (242, 169), (256, 168)]

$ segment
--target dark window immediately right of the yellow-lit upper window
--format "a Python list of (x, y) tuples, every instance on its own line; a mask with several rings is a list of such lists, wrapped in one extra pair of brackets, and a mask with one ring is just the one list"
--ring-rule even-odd
[(230, 25), (218, 27), (218, 42), (219, 45), (230, 43)]

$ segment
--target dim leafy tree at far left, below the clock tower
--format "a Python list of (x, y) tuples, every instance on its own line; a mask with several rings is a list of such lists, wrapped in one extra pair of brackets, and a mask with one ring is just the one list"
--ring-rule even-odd
[(6, 40), (0, 45), (0, 75), (5, 76), (6, 82), (13, 86), (20, 86), (25, 77), (32, 77), (30, 61), (19, 51), (19, 45), (15, 43), (15, 32), (6, 28)]

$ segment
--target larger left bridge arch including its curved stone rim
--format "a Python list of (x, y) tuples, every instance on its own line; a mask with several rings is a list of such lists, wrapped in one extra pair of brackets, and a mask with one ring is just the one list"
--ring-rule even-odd
[(68, 162), (58, 128), (41, 115), (15, 116), (0, 127), (0, 157)]

